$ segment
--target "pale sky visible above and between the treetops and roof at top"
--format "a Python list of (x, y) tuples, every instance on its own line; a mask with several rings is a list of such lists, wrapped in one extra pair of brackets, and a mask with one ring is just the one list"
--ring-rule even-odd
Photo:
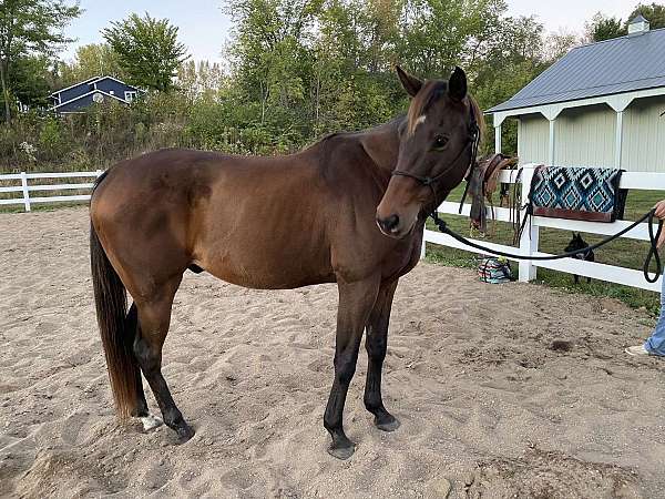
[[(638, 0), (508, 0), (509, 14), (535, 14), (548, 31), (582, 32), (584, 22), (602, 11), (624, 18)], [(65, 60), (74, 57), (76, 47), (102, 41), (100, 31), (111, 21), (131, 12), (150, 12), (154, 18), (168, 18), (180, 28), (180, 40), (187, 45), (195, 60), (221, 62), (222, 47), (228, 39), (231, 21), (216, 0), (80, 0), (83, 14), (66, 29), (76, 42), (63, 52)]]

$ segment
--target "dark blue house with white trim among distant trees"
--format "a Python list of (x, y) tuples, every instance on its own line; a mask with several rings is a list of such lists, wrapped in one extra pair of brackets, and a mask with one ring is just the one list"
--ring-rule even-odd
[(145, 92), (113, 77), (94, 77), (49, 95), (50, 111), (59, 114), (83, 112), (106, 101), (129, 105)]

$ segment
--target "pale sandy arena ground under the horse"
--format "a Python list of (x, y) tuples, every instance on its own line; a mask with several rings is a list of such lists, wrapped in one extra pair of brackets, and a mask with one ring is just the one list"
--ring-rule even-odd
[(187, 273), (164, 375), (197, 434), (175, 446), (164, 426), (120, 426), (88, 223), (85, 208), (0, 214), (0, 497), (663, 497), (665, 361), (623, 353), (645, 315), (429, 264), (392, 312), (383, 398), (402, 426), (371, 425), (361, 352), (350, 460), (328, 456), (321, 424), (332, 285), (256, 292)]

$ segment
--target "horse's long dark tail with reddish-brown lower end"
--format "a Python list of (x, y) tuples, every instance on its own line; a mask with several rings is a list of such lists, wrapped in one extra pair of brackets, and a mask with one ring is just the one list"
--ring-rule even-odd
[(90, 224), (90, 262), (98, 324), (106, 355), (106, 368), (117, 415), (124, 419), (136, 407), (139, 365), (132, 345), (136, 314), (126, 315), (127, 296), (117, 273)]

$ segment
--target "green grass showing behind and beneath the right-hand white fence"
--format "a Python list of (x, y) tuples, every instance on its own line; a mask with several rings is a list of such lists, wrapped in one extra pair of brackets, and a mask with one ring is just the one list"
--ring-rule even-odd
[[(449, 201), (458, 201), (461, 198), (462, 189), (458, 187), (449, 196)], [(663, 191), (630, 191), (626, 201), (626, 210), (624, 220), (637, 220), (644, 213), (653, 207), (653, 205), (665, 198)], [(463, 216), (446, 215), (446, 222), (456, 232), (468, 235), (469, 220)], [(491, 226), (494, 222), (488, 221), (488, 232), (491, 233)], [(436, 231), (431, 222), (428, 222), (428, 228)], [(478, 237), (478, 236), (477, 236)], [(545, 253), (562, 253), (572, 237), (570, 232), (557, 231), (554, 228), (541, 228), (539, 249)], [(601, 235), (582, 233), (582, 237), (589, 244), (596, 243), (603, 238)], [(497, 222), (495, 233), (488, 235), (484, 241), (512, 245), (513, 231), (509, 223)], [(613, 241), (607, 246), (596, 249), (595, 261), (611, 265), (618, 265), (626, 268), (642, 269), (644, 258), (648, 251), (648, 243), (644, 241), (634, 241), (628, 238), (620, 238)], [(475, 254), (461, 249), (428, 244), (427, 259), (437, 264), (475, 268)], [(516, 272), (516, 265), (513, 265)], [(590, 284), (586, 279), (580, 279), (580, 284), (573, 284), (571, 274), (550, 271), (548, 268), (538, 269), (538, 283), (544, 284), (554, 288), (559, 288), (569, 293), (585, 294), (591, 296), (617, 298), (634, 308), (644, 308), (651, 315), (657, 316), (659, 313), (659, 294), (644, 289), (637, 289), (630, 286), (606, 283), (603, 281), (593, 279)]]

